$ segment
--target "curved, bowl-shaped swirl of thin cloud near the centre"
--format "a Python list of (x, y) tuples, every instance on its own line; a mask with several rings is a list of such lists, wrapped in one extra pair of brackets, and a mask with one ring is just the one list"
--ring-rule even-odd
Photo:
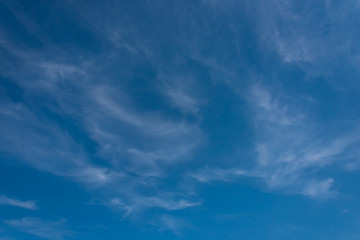
[[(184, 159), (201, 143), (202, 134), (196, 124), (135, 110), (126, 94), (118, 95), (106, 86), (96, 89), (91, 95), (92, 110), (84, 110), (84, 124), (104, 158), (126, 156), (121, 161), (129, 163), (130, 171), (152, 175), (158, 162)], [(132, 129), (131, 136), (128, 129)]]

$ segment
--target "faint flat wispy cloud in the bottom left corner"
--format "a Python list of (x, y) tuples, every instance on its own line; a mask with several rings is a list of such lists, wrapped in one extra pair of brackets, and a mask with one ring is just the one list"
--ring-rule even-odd
[(45, 221), (40, 218), (22, 218), (4, 220), (4, 223), (25, 233), (43, 239), (63, 240), (74, 236), (74, 232), (66, 227), (66, 220)]

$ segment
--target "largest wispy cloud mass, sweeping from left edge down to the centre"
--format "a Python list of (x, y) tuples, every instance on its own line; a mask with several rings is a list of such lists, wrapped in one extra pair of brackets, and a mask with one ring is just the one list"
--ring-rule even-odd
[[(109, 195), (132, 208), (159, 207), (171, 211), (192, 206), (185, 200), (165, 202), (162, 198), (143, 196), (135, 189), (139, 185), (155, 188), (143, 182), (148, 178), (165, 181), (164, 163), (184, 161), (191, 155), (202, 141), (197, 123), (190, 123), (183, 116), (169, 117), (158, 109), (144, 110), (141, 104), (139, 107), (136, 98), (124, 91), (122, 84), (114, 84), (117, 80), (104, 71), (108, 67), (106, 53), (102, 60), (76, 61), (77, 57), (60, 49), (58, 58), (52, 58), (46, 52), (28, 51), (8, 41), (3, 47), (23, 66), (22, 71), (7, 71), (5, 75), (30, 95), (46, 99), (40, 103), (44, 108), (60, 118), (75, 120), (79, 132), (96, 144), (96, 152), (89, 155), (85, 146), (56, 119), (39, 114), (38, 105), (31, 104), (36, 100), (27, 95), (26, 103), (8, 100), (1, 105), (3, 152), (40, 171), (88, 187), (96, 186), (98, 191), (106, 189)], [(35, 82), (28, 81), (29, 77)], [(99, 83), (99, 78), (104, 81)], [(157, 94), (163, 92), (159, 89)], [(181, 94), (186, 95), (184, 91)], [(187, 107), (197, 108), (195, 100), (189, 103), (192, 106), (186, 103)], [(99, 161), (93, 163), (93, 157), (100, 158), (103, 165)], [(126, 191), (119, 190), (118, 186), (124, 184)]]

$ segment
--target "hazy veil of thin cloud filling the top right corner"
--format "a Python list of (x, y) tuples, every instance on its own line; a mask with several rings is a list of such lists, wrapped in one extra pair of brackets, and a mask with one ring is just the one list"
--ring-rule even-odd
[[(339, 4), (321, 1), (314, 5), (312, 1), (306, 0), (301, 8), (295, 1), (255, 2), (258, 4), (258, 14), (254, 15), (261, 36), (259, 45), (266, 51), (278, 53), (284, 63), (301, 67), (309, 76), (339, 74), (334, 70), (334, 62), (338, 61), (353, 65), (354, 73), (357, 72), (358, 60), (349, 54), (357, 46), (356, 38), (353, 37), (357, 32), (357, 24), (349, 18), (357, 14), (356, 1), (342, 1)], [(316, 14), (320, 9), (323, 14)], [(347, 28), (342, 27), (344, 23), (347, 23)], [(346, 81), (355, 79), (350, 77)], [(342, 83), (336, 82), (336, 85)]]

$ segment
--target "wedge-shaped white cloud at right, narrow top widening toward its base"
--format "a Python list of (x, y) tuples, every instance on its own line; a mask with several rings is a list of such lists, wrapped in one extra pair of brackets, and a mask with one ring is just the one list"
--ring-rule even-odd
[(334, 180), (315, 181), (311, 172), (343, 161), (341, 155), (359, 145), (360, 138), (353, 133), (322, 137), (317, 124), (301, 112), (300, 103), (274, 97), (260, 85), (250, 89), (250, 96), (258, 153), (257, 166), (250, 173), (264, 179), (270, 189), (331, 196)]

